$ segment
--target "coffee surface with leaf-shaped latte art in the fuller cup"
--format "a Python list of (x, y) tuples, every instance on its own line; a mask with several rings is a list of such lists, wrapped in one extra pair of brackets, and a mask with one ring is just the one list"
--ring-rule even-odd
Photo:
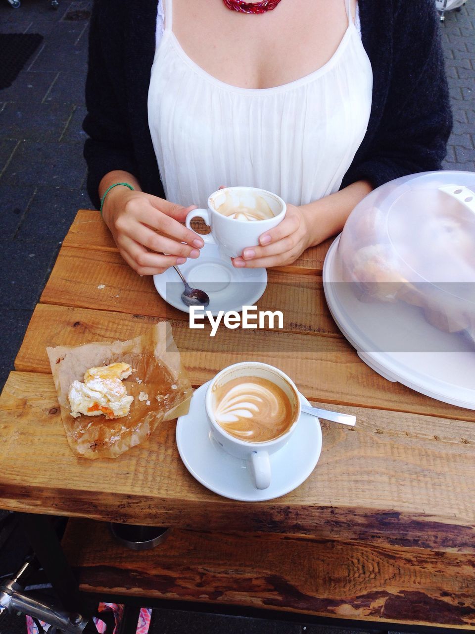
[(228, 434), (253, 443), (282, 436), (293, 424), (292, 406), (272, 381), (239, 377), (215, 390), (216, 422)]

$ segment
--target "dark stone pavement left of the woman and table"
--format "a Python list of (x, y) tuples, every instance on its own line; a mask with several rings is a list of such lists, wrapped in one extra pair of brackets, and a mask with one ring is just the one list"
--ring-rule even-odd
[(81, 129), (90, 5), (0, 0), (0, 32), (44, 36), (0, 90), (0, 387), (77, 209), (92, 207)]

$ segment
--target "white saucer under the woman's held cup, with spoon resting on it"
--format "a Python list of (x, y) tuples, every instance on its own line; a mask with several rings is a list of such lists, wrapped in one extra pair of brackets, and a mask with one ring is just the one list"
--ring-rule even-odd
[[(180, 270), (191, 287), (208, 294), (210, 304), (206, 308), (216, 316), (219, 311), (241, 311), (243, 306), (253, 306), (262, 297), (267, 286), (265, 269), (236, 269), (229, 257), (221, 256), (214, 244), (206, 243), (196, 260), (189, 258), (180, 264)], [(154, 275), (153, 283), (163, 299), (184, 313), (189, 307), (181, 301), (183, 284), (173, 268), (162, 275)]]

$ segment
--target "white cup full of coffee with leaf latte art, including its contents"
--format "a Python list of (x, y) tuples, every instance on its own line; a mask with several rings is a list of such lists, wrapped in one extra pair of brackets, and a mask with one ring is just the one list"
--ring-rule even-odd
[(246, 460), (255, 488), (267, 489), (269, 456), (285, 447), (300, 418), (291, 378), (267, 363), (236, 363), (210, 382), (205, 406), (213, 439), (231, 456)]

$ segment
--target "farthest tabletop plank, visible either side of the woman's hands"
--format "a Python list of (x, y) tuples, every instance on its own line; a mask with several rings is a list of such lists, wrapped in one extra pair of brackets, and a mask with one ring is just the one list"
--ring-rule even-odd
[[(311, 247), (293, 264), (276, 267), (276, 270), (302, 275), (321, 275), (323, 262), (332, 242), (333, 238), (330, 238), (317, 247)], [(63, 244), (66, 247), (79, 247), (79, 249), (118, 251), (99, 213), (87, 209), (80, 209), (77, 212)]]

